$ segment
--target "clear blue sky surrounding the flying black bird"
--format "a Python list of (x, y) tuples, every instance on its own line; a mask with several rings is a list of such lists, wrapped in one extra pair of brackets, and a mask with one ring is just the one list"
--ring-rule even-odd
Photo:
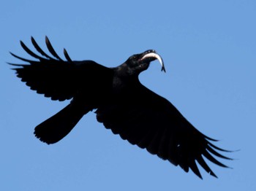
[[(255, 190), (256, 1), (2, 1), (0, 4), (0, 190)], [(155, 49), (165, 60), (140, 80), (170, 100), (225, 149), (241, 149), (200, 168), (203, 181), (113, 135), (93, 113), (48, 146), (34, 127), (67, 105), (38, 95), (6, 62), (29, 58), (19, 40), (62, 55), (117, 66)]]

